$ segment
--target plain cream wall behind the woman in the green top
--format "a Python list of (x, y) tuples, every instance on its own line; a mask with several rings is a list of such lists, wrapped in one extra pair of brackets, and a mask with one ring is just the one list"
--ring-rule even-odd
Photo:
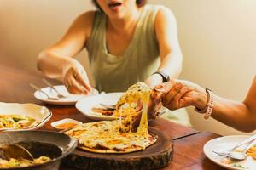
[[(256, 73), (255, 0), (150, 0), (176, 15), (183, 50), (181, 78), (242, 100)], [(0, 0), (0, 51), (9, 62), (35, 70), (38, 53), (56, 42), (90, 0)], [(86, 53), (78, 59), (86, 63)], [(88, 65), (84, 65), (88, 68)], [(195, 128), (238, 133), (189, 109)]]

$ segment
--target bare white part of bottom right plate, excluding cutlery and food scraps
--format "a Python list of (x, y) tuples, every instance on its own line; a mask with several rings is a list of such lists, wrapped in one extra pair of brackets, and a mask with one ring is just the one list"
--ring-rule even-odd
[(224, 164), (221, 162), (224, 159), (224, 156), (218, 156), (213, 153), (212, 150), (224, 151), (233, 148), (236, 144), (240, 143), (242, 140), (247, 139), (246, 135), (234, 135), (234, 136), (224, 136), (217, 139), (212, 139), (204, 145), (204, 153), (205, 155), (213, 162), (217, 163), (221, 167), (225, 167), (227, 169), (241, 169), (238, 167), (234, 167), (236, 165), (241, 165), (245, 167), (245, 169), (256, 169), (256, 161), (253, 160), (251, 156), (247, 156), (247, 159), (244, 161), (236, 161), (231, 164)]

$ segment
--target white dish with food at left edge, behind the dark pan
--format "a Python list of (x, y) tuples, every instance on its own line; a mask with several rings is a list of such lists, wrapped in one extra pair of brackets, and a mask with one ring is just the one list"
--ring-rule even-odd
[(0, 131), (38, 129), (51, 116), (51, 111), (44, 106), (0, 102)]

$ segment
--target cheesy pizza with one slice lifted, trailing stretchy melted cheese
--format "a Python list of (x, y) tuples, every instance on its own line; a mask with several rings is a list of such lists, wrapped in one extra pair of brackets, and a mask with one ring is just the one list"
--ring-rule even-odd
[[(119, 99), (118, 120), (84, 123), (66, 133), (79, 140), (79, 148), (96, 153), (128, 153), (144, 150), (157, 139), (148, 133), (148, 101), (151, 89), (143, 82), (132, 85)], [(132, 124), (141, 114), (137, 130)]]

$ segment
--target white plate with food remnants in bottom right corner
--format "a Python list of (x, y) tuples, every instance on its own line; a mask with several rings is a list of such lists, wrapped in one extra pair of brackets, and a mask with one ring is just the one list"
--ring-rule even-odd
[[(205, 155), (213, 162), (217, 163), (221, 167), (227, 169), (255, 169), (256, 167), (256, 146), (252, 146), (246, 151), (246, 159), (234, 160), (229, 157), (219, 156), (218, 153), (225, 152), (226, 150), (232, 149), (236, 144), (241, 143), (247, 139), (247, 135), (233, 135), (224, 136), (217, 139), (212, 139), (204, 145)], [(246, 145), (246, 144), (245, 144)], [(243, 148), (241, 148), (243, 149)], [(237, 153), (241, 153), (241, 149), (234, 150)]]

